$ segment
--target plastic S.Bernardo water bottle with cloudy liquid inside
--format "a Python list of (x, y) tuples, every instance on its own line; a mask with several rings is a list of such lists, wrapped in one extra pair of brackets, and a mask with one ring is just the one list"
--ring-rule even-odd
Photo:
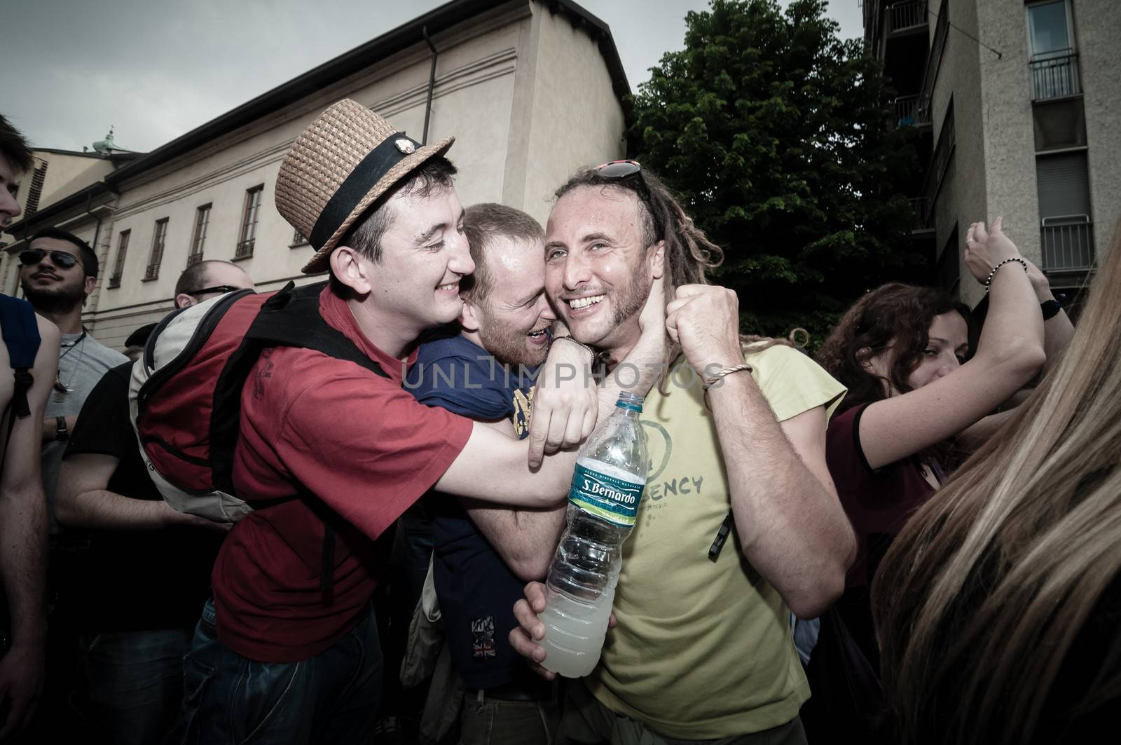
[(545, 594), (547, 670), (582, 678), (600, 661), (608, 616), (646, 486), (642, 398), (624, 392), (580, 451), (568, 489), (568, 525), (549, 567)]

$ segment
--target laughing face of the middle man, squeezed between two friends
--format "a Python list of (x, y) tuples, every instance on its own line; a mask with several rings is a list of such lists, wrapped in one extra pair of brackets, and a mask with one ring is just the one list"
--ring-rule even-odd
[(487, 292), (464, 302), (464, 329), (476, 330), (482, 348), (500, 362), (535, 366), (548, 355), (545, 331), (556, 314), (545, 297), (543, 246), (491, 236), (483, 252)]

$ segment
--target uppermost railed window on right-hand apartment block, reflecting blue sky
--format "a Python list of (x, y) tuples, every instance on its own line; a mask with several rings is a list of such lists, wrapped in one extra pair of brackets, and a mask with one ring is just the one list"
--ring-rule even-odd
[(1046, 101), (1081, 93), (1069, 3), (1048, 0), (1029, 4), (1027, 9), (1031, 100)]

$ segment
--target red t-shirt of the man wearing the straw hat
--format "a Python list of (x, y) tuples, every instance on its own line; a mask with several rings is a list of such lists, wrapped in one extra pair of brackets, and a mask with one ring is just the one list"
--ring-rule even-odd
[(333, 522), (331, 597), (319, 589), (323, 521), (304, 502), (254, 512), (226, 536), (212, 577), (217, 636), (261, 662), (306, 660), (353, 628), (385, 564), (388, 546), (379, 544), (387, 542), (376, 540), (471, 435), (470, 420), (401, 388), (401, 360), (370, 343), (330, 287), (319, 313), (390, 377), (293, 347), (267, 350), (250, 374), (234, 452), (238, 494), (252, 500), (305, 490), (345, 521)]

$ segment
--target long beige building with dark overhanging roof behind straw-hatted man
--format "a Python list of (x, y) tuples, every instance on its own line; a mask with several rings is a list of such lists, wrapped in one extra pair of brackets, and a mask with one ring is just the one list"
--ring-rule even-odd
[(18, 291), (17, 255), (50, 226), (94, 246), (102, 270), (83, 322), (118, 348), (172, 309), (179, 274), (204, 258), (239, 263), (262, 291), (314, 280), (299, 273), (314, 250), (276, 211), (274, 186), (296, 136), (342, 98), (418, 141), (455, 135), (465, 205), (502, 202), (544, 222), (576, 168), (622, 157), (629, 92), (610, 29), (576, 3), (454, 0), (151, 153), (117, 153), (40, 194), (8, 229), (0, 291)]

